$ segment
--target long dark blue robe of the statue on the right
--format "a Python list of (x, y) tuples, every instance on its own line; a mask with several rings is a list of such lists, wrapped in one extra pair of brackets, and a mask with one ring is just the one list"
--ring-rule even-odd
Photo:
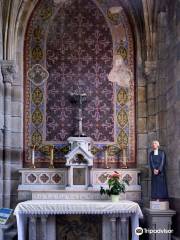
[[(166, 184), (165, 163), (166, 156), (162, 150), (158, 150), (158, 155), (154, 155), (154, 151), (149, 156), (150, 167), (152, 170), (151, 178), (151, 199), (167, 200), (168, 191)], [(158, 175), (154, 174), (154, 169), (158, 169)]]

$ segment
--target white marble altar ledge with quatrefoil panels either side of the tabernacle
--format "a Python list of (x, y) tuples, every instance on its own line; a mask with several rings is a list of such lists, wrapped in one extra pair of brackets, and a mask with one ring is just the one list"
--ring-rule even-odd
[(127, 200), (141, 201), (141, 186), (139, 185), (138, 169), (103, 169), (92, 168), (89, 175), (89, 187), (87, 189), (66, 189), (66, 168), (36, 168), (21, 169), (22, 182), (18, 186), (18, 198), (20, 201), (30, 199), (108, 199), (99, 194), (100, 186), (107, 187), (107, 174), (114, 170), (120, 173), (122, 178), (129, 179), (124, 198)]

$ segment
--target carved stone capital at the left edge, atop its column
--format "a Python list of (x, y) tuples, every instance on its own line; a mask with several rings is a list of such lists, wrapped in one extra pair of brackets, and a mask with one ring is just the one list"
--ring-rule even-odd
[(1, 61), (1, 72), (4, 83), (13, 83), (16, 77), (16, 65), (14, 61)]

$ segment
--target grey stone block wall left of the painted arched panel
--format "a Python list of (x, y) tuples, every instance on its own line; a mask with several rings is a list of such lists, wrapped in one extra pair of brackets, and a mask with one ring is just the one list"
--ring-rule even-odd
[[(13, 32), (8, 24), (11, 21), (15, 24), (15, 16), (10, 14), (9, 21), (6, 21), (5, 16), (10, 9), (3, 9), (3, 3), (0, 1), (0, 207), (14, 207), (17, 203), (18, 170), (22, 167), (23, 92), (22, 85), (19, 84), (20, 74), (16, 60), (12, 57), (15, 49), (5, 40), (8, 32)], [(9, 1), (6, 1), (6, 4), (8, 5)], [(14, 10), (18, 4), (16, 1)], [(14, 38), (9, 37), (9, 40), (15, 42)]]

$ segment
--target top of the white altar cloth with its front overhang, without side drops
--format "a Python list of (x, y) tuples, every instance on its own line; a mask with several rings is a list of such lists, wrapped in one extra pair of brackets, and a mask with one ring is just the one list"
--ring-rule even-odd
[(139, 205), (132, 201), (31, 200), (19, 203), (14, 214), (118, 214), (136, 213), (142, 217)]

